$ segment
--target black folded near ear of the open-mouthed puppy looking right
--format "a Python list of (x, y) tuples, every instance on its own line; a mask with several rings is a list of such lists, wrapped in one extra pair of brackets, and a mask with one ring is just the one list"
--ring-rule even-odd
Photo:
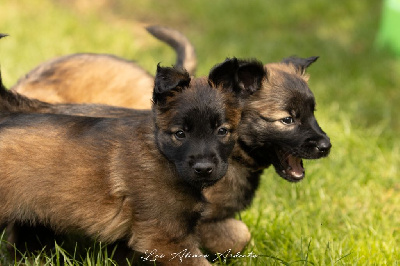
[(240, 93), (248, 96), (261, 88), (262, 80), (267, 76), (267, 72), (260, 61), (239, 60), (237, 76)]

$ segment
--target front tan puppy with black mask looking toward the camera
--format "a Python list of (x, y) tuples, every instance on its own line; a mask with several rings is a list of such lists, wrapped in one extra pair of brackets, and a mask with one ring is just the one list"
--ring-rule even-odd
[[(227, 60), (191, 81), (183, 70), (158, 67), (153, 115), (135, 119), (43, 114), (49, 105), (2, 85), (0, 223), (122, 239), (171, 265), (186, 251), (195, 258), (183, 265), (208, 265), (195, 234), (208, 204), (202, 190), (226, 174), (241, 99), (261, 85), (238, 71), (238, 61)], [(24, 113), (30, 108), (39, 113)], [(50, 112), (63, 109), (70, 110)]]

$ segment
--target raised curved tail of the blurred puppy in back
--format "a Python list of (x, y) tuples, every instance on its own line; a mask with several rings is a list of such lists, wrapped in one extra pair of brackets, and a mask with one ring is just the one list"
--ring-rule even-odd
[(166, 42), (177, 53), (175, 66), (185, 68), (191, 76), (196, 73), (196, 52), (190, 41), (179, 31), (162, 26), (149, 26), (146, 30), (157, 39)]

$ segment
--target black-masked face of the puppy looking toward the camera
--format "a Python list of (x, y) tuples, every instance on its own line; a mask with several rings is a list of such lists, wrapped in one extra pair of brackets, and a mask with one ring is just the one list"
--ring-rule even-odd
[[(237, 66), (235, 62), (227, 61), (212, 72), (231, 63)], [(159, 107), (153, 108), (153, 112), (158, 148), (190, 183), (199, 188), (214, 184), (228, 168), (227, 158), (235, 143), (233, 136), (241, 115), (239, 101), (231, 92), (215, 93), (205, 79), (195, 79), (191, 84), (204, 87), (202, 91), (182, 94), (179, 91), (185, 84), (176, 77), (172, 78), (179, 83), (168, 80), (169, 69), (158, 68), (157, 75), (153, 101)], [(216, 79), (211, 82), (222, 84)], [(165, 84), (177, 89), (171, 90)]]

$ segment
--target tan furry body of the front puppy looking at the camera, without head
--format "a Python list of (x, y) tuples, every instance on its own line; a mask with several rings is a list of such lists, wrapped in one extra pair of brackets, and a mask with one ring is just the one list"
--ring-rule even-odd
[[(169, 162), (155, 146), (151, 120), (136, 131), (109, 120), (113, 132), (95, 131), (94, 138), (85, 136), (82, 125), (94, 122), (85, 118), (25, 116), (36, 123), (16, 124), (17, 115), (1, 119), (1, 221), (45, 224), (105, 242), (126, 239), (139, 252), (201, 254), (189, 224), (176, 217), (200, 212), (201, 199), (179, 189), (172, 166), (159, 167)], [(63, 126), (54, 126), (55, 119)]]

